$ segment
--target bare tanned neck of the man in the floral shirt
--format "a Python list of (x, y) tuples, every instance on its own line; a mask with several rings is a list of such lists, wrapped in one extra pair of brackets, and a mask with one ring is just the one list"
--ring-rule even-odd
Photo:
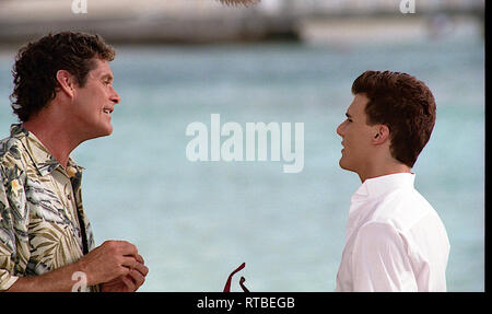
[(70, 153), (81, 143), (80, 140), (74, 139), (70, 135), (69, 128), (63, 127), (61, 124), (51, 124), (50, 120), (34, 118), (25, 121), (23, 127), (34, 133), (65, 168), (67, 167)]

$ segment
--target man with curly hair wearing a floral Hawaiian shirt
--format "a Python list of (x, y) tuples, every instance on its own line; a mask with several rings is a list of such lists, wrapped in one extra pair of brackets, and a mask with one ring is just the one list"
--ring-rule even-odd
[(70, 158), (113, 132), (114, 57), (102, 37), (73, 32), (16, 56), (11, 101), (20, 124), (0, 141), (0, 291), (136, 291), (144, 282), (149, 269), (133, 244), (94, 248), (83, 168)]

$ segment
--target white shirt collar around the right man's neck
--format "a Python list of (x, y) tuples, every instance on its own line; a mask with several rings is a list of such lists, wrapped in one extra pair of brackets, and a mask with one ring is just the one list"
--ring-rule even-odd
[(414, 181), (414, 173), (395, 173), (367, 178), (352, 196), (352, 200), (376, 198), (398, 188), (413, 188)]

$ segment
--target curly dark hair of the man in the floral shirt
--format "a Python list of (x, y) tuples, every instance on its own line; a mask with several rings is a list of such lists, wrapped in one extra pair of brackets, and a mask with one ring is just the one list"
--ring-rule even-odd
[(14, 90), (11, 106), (19, 120), (27, 121), (55, 98), (57, 72), (66, 70), (83, 88), (94, 58), (113, 61), (115, 49), (98, 35), (61, 32), (23, 46), (12, 69)]

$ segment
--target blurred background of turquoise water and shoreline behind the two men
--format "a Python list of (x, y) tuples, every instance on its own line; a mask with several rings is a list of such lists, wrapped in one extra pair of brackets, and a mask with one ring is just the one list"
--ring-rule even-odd
[[(115, 46), (114, 133), (72, 156), (96, 245), (127, 240), (145, 258), (140, 291), (222, 291), (243, 261), (232, 291), (241, 276), (258, 292), (335, 290), (361, 184), (338, 166), (336, 128), (365, 70), (408, 72), (433, 91), (415, 186), (447, 229), (448, 291), (484, 290), (484, 1), (403, 1), (407, 14), (399, 0), (87, 0), (79, 14), (72, 2), (0, 0), (0, 136), (16, 123), (22, 45), (72, 30)], [(214, 113), (243, 127), (304, 123), (304, 170), (188, 161), (186, 127), (210, 128)]]

